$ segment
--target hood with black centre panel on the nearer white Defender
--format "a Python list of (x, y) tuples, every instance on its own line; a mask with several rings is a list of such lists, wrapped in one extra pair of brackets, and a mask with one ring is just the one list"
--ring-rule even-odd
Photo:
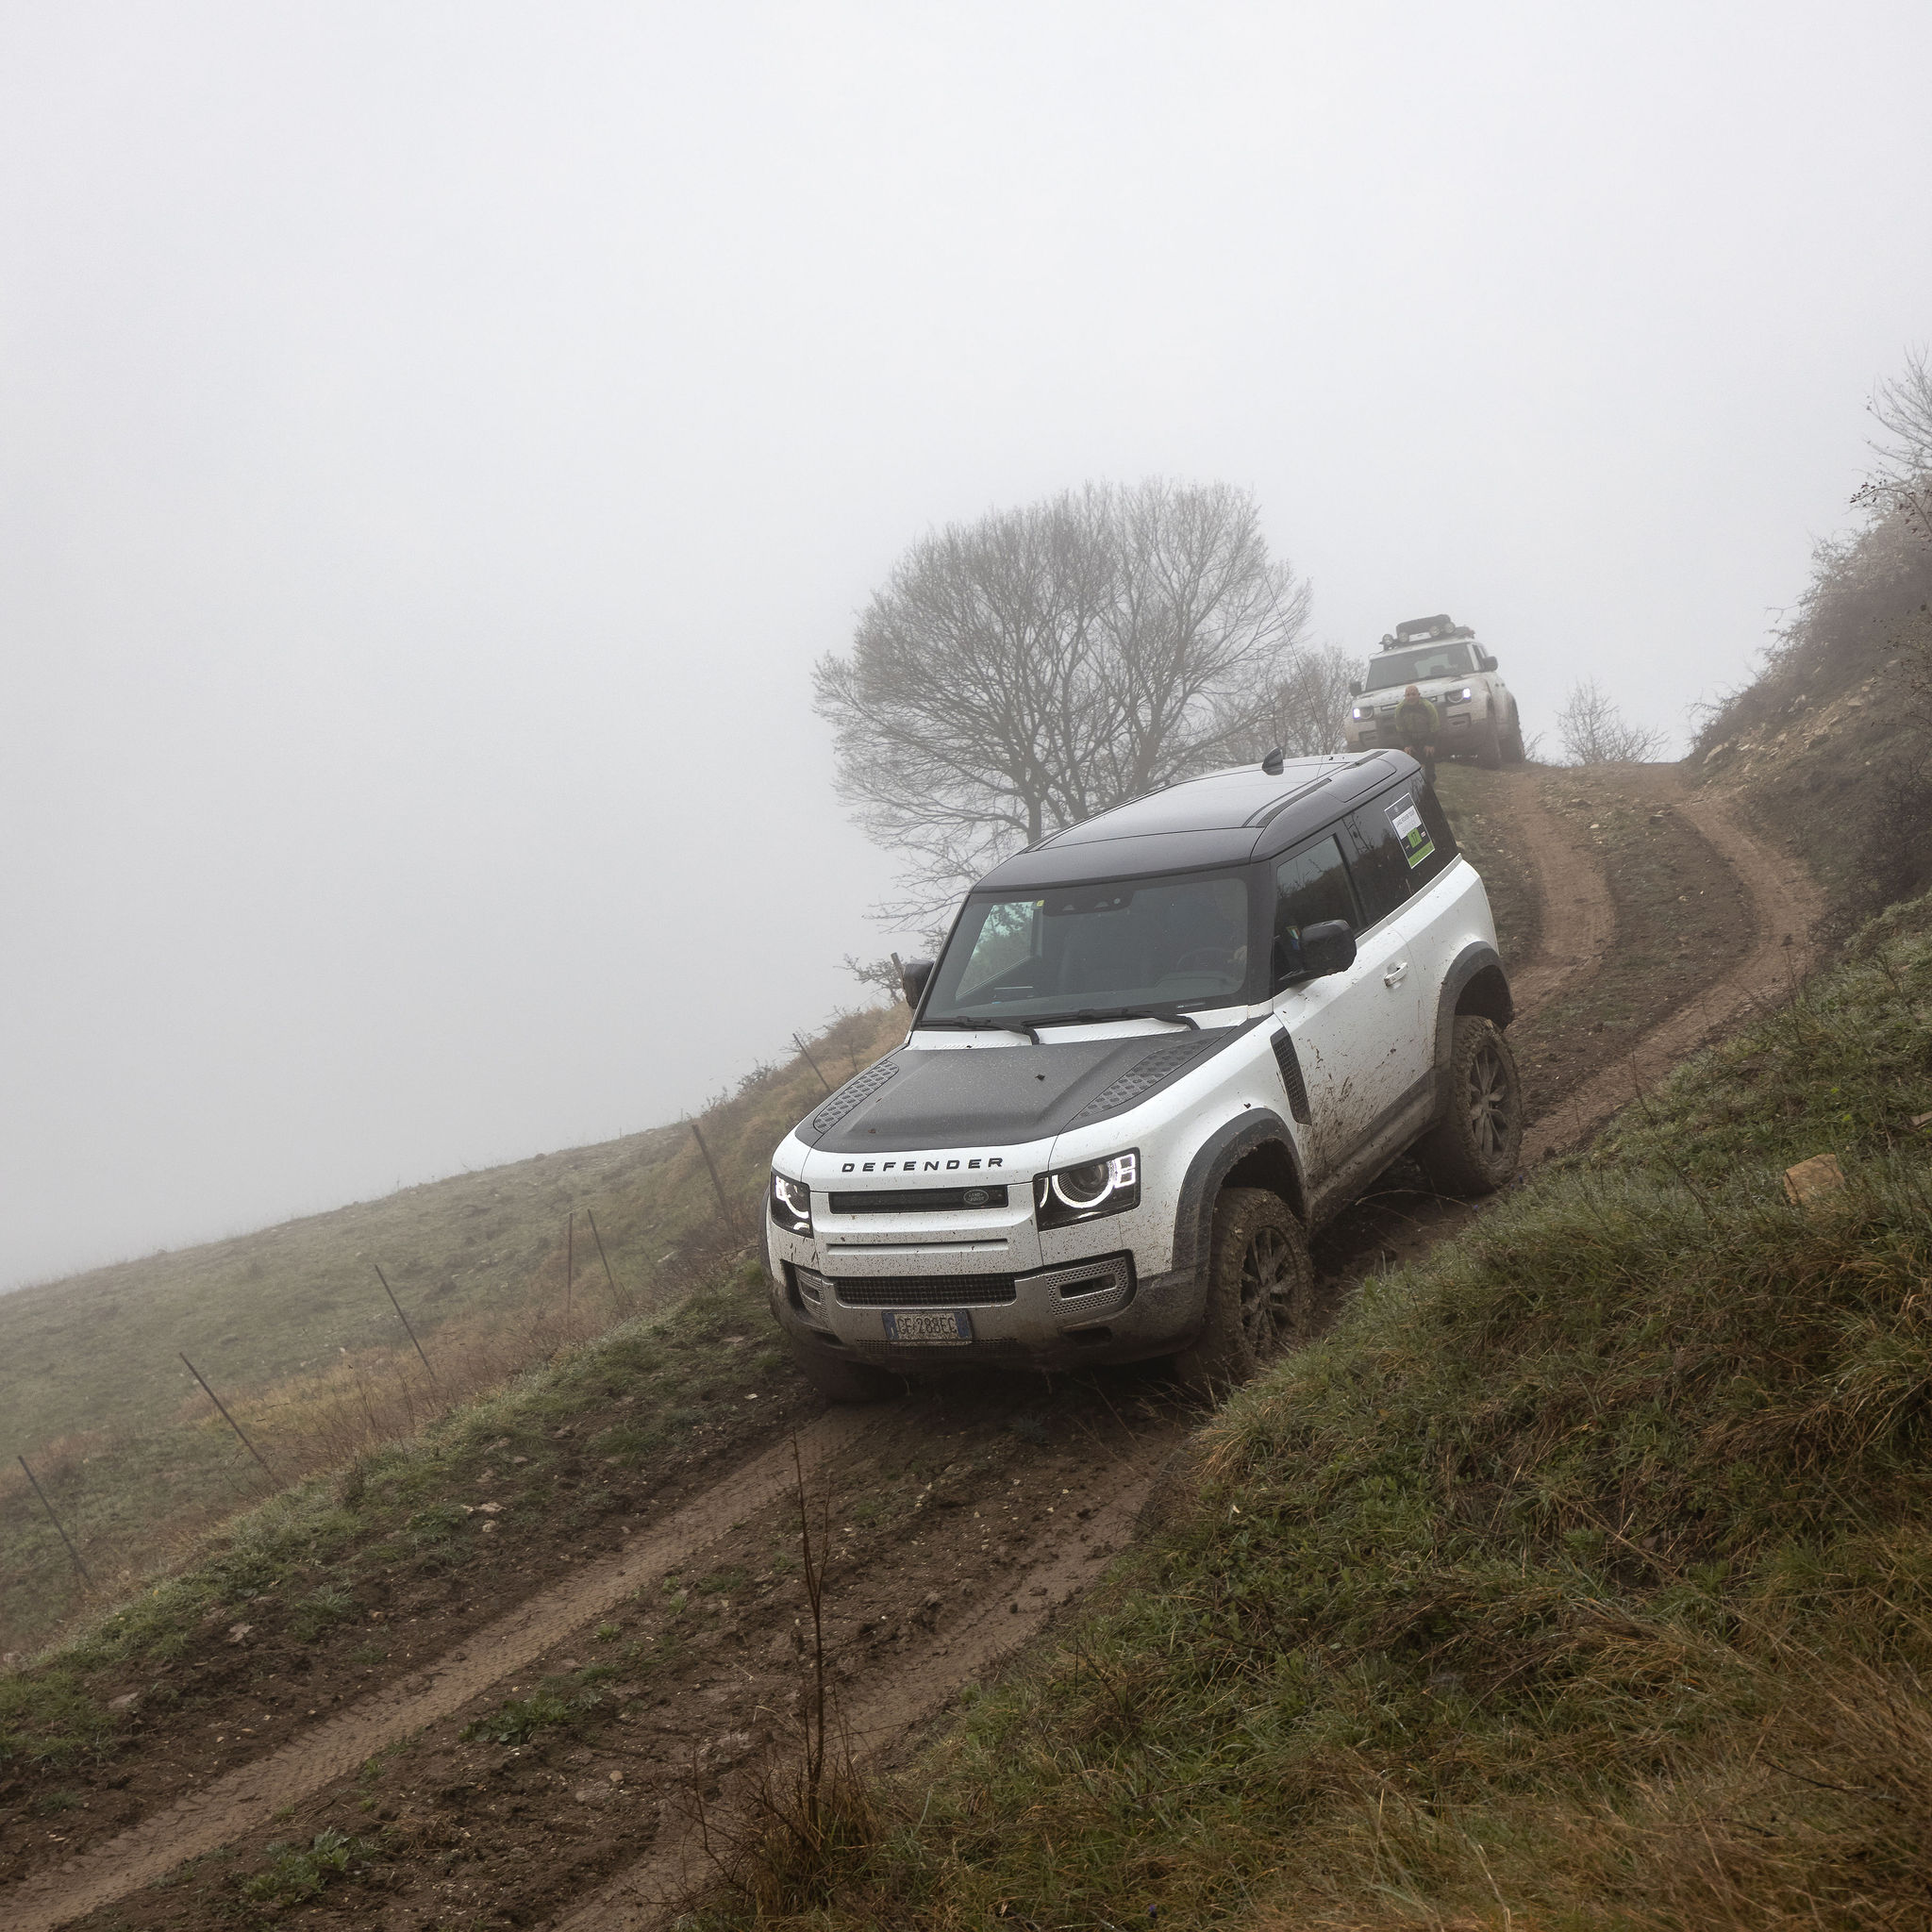
[(1045, 1140), (1124, 1113), (1240, 1032), (1229, 1026), (1039, 1047), (900, 1047), (848, 1080), (796, 1134), (821, 1153)]

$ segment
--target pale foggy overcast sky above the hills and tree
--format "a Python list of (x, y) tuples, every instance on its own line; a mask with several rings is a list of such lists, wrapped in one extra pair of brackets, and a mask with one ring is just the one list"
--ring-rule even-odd
[(0, 1283), (858, 997), (810, 667), (1227, 479), (1683, 742), (1932, 334), (1932, 8), (0, 4)]

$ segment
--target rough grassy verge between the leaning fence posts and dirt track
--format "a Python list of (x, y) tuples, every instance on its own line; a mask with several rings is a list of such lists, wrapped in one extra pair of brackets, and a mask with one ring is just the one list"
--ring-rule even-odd
[[(535, 1586), (554, 1580), (560, 1551), (638, 1509), (639, 1472), (670, 1495), (680, 1474), (782, 1426), (773, 1420), (782, 1401), (763, 1410), (740, 1401), (748, 1387), (788, 1397), (796, 1381), (763, 1320), (761, 1264), (740, 1264), (668, 1314), (618, 1323), (419, 1435), (234, 1517), (178, 1575), (0, 1675), (0, 1820), (23, 1789), (17, 1774), (41, 1793), (39, 1808), (64, 1785), (126, 1785), (116, 1758), (156, 1723), (187, 1723), (172, 1748), (184, 1764), (197, 1747), (209, 1756), (191, 1735), (199, 1704), (243, 1679), (274, 1683), (270, 1667), (311, 1687), (298, 1704), (406, 1673), (413, 1660), (390, 1652), (388, 1633), (373, 1633), (371, 1648), (371, 1609), (487, 1621), (531, 1575)], [(495, 1509), (479, 1513), (477, 1501)], [(245, 1654), (226, 1642), (240, 1617), (251, 1629)], [(460, 1631), (454, 1623), (450, 1640)], [(128, 1692), (139, 1710), (114, 1710)], [(299, 1719), (294, 1708), (284, 1716)]]

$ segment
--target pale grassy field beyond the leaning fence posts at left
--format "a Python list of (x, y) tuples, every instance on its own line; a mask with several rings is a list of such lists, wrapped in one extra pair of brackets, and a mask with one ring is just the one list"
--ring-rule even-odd
[[(902, 1024), (904, 1009), (850, 1014), (811, 1055), (837, 1084)], [(440, 1395), (473, 1393), (620, 1312), (587, 1213), (626, 1296), (655, 1306), (715, 1273), (755, 1227), (771, 1148), (823, 1092), (800, 1057), (755, 1070), (701, 1117), (736, 1227), (690, 1130), (668, 1126), (0, 1296), (0, 1650), (31, 1648), (81, 1604), (15, 1455), (33, 1463), (102, 1588), (126, 1590), (263, 1490), (176, 1350), (240, 1412), (276, 1474), (338, 1461), (365, 1403), (379, 1434), (440, 1406), (439, 1391), (408, 1385), (413, 1356), (377, 1264), (442, 1366)]]

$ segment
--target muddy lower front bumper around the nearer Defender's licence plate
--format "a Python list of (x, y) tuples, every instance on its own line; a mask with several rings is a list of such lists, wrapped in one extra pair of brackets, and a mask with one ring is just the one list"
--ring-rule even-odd
[[(1136, 1277), (1132, 1254), (1016, 1275), (829, 1277), (781, 1262), (771, 1306), (808, 1347), (896, 1374), (947, 1368), (1078, 1368), (1173, 1354), (1206, 1312), (1192, 1271)], [(970, 1341), (902, 1343), (887, 1314), (964, 1310)]]

